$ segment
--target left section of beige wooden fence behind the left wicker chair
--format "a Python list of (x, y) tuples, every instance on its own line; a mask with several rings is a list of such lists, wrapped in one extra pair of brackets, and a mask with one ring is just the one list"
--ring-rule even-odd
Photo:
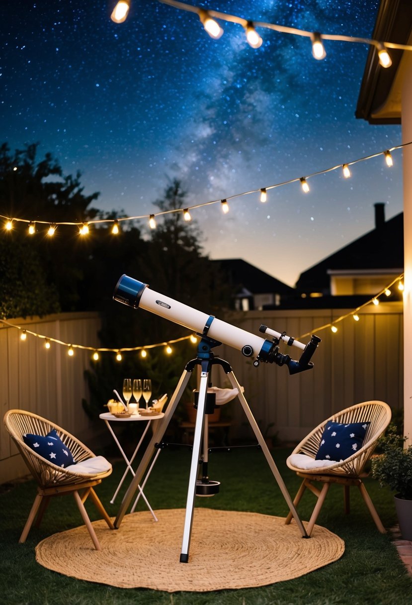
[[(97, 313), (61, 313), (45, 318), (13, 319), (14, 325), (62, 342), (98, 347), (100, 319)], [(14, 408), (39, 414), (87, 441), (90, 422), (82, 408), (88, 397), (84, 371), (90, 366), (91, 352), (76, 348), (69, 357), (66, 347), (27, 336), (0, 324), (0, 405), (1, 418)], [(0, 423), (0, 483), (28, 474), (28, 469), (4, 424)]]

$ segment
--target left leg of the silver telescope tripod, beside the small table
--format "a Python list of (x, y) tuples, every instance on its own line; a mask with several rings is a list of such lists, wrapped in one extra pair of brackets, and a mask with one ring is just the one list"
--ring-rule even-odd
[(124, 515), (126, 514), (126, 510), (129, 506), (130, 502), (132, 502), (132, 499), (138, 489), (138, 486), (147, 469), (147, 466), (149, 466), (150, 459), (152, 458), (153, 453), (155, 452), (155, 449), (156, 449), (155, 443), (158, 443), (162, 440), (163, 435), (166, 432), (167, 427), (169, 426), (169, 422), (172, 419), (176, 406), (178, 405), (178, 402), (182, 396), (182, 393), (184, 392), (184, 390), (186, 388), (186, 385), (187, 385), (191, 375), (192, 375), (191, 372), (189, 372), (187, 370), (183, 371), (183, 373), (180, 377), (180, 380), (178, 382), (178, 385), (175, 388), (175, 392), (172, 395), (172, 399), (170, 399), (170, 403), (167, 406), (166, 412), (164, 413), (163, 418), (161, 418), (157, 422), (156, 430), (153, 432), (153, 437), (152, 437), (152, 439), (150, 439), (149, 445), (147, 446), (146, 451), (143, 454), (140, 465), (137, 468), (134, 478), (130, 482), (130, 485), (126, 491), (126, 494), (124, 494), (123, 500), (120, 505), (120, 509), (118, 510), (117, 517), (115, 518), (115, 522), (114, 522), (114, 526), (116, 529), (120, 528), (120, 523), (121, 523)]

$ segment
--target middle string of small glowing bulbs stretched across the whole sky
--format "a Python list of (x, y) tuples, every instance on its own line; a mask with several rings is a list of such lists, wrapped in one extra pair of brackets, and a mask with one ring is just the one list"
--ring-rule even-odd
[[(412, 145), (412, 141), (410, 141), (408, 143), (403, 143), (402, 145), (398, 145), (398, 146), (392, 147), (391, 149), (387, 149), (386, 151), (379, 151), (379, 152), (376, 152), (375, 154), (367, 155), (365, 157), (361, 157), (361, 158), (358, 158), (356, 160), (352, 160), (351, 162), (347, 162), (347, 165), (349, 166), (349, 165), (356, 164), (358, 162), (364, 162), (365, 160), (371, 160), (371, 159), (373, 159), (375, 157), (378, 157), (378, 155), (384, 155), (385, 159), (386, 159), (386, 162), (388, 163), (388, 162), (391, 162), (391, 159), (392, 159), (391, 153), (390, 153), (391, 151), (393, 151), (394, 149), (402, 149), (402, 148), (404, 148), (404, 147), (406, 147), (408, 145)], [(390, 165), (392, 165), (392, 164), (390, 164)], [(338, 164), (336, 166), (331, 166), (330, 168), (325, 168), (325, 169), (320, 170), (318, 172), (313, 172), (312, 174), (308, 174), (306, 176), (306, 178), (304, 178), (304, 180), (306, 180), (309, 177), (312, 178), (312, 177), (315, 177), (315, 176), (318, 176), (318, 175), (321, 175), (321, 174), (326, 174), (327, 172), (335, 171), (337, 169), (343, 169), (343, 166), (344, 166), (344, 164), (341, 163), (341, 164)], [(233, 194), (230, 197), (228, 197), (226, 200), (213, 200), (213, 201), (206, 201), (205, 203), (201, 203), (201, 204), (196, 204), (194, 206), (191, 206), (190, 208), (187, 208), (187, 211), (190, 211), (190, 210), (195, 209), (195, 208), (203, 208), (204, 206), (210, 206), (211, 204), (217, 204), (217, 203), (222, 202), (222, 201), (227, 201), (228, 199), (232, 200), (233, 198), (239, 198), (239, 197), (242, 197), (243, 195), (249, 195), (249, 194), (259, 193), (259, 192), (261, 193), (263, 189), (265, 189), (265, 191), (267, 192), (269, 189), (275, 189), (275, 188), (278, 188), (278, 187), (289, 185), (290, 183), (295, 183), (296, 181), (301, 181), (302, 182), (302, 180), (300, 178), (291, 178), (291, 179), (289, 179), (287, 181), (283, 181), (283, 182), (280, 182), (280, 183), (275, 183), (274, 185), (266, 186), (265, 188), (253, 189), (251, 191), (244, 191), (242, 193)], [(158, 212), (158, 213), (156, 213), (156, 216), (165, 215), (165, 214), (172, 214), (174, 212), (182, 212), (182, 209), (181, 208), (175, 208), (175, 209), (170, 209), (170, 210)], [(143, 218), (146, 218), (146, 219), (149, 218), (149, 220), (150, 220), (150, 218), (152, 218), (152, 217), (153, 217), (153, 220), (155, 221), (155, 218), (154, 218), (155, 215), (154, 214), (153, 215), (152, 214), (150, 214), (150, 215), (146, 214), (146, 215), (140, 215), (140, 216), (134, 216), (134, 217), (123, 217), (123, 218), (119, 218), (119, 219), (116, 219), (116, 220), (113, 220), (112, 218), (111, 219), (109, 219), (109, 218), (107, 218), (107, 219), (103, 218), (103, 219), (98, 219), (98, 220), (89, 220), (88, 224), (90, 225), (90, 224), (95, 224), (95, 223), (111, 223), (113, 225), (112, 226), (112, 233), (117, 233), (116, 227), (119, 226), (120, 221), (134, 221), (134, 220), (143, 219)], [(25, 219), (25, 218), (17, 218), (17, 217), (8, 218), (8, 217), (5, 217), (4, 215), (0, 215), (0, 218), (4, 218), (5, 221), (14, 221), (14, 222), (20, 221), (20, 222), (24, 222), (24, 223), (29, 223), (29, 221), (27, 219)], [(40, 223), (40, 224), (41, 223), (43, 223), (43, 224), (50, 224), (49, 231), (48, 231), (49, 235), (53, 235), (54, 231), (56, 231), (57, 225), (78, 225), (79, 224), (76, 221), (73, 221), (73, 222), (64, 222), (64, 223), (63, 222), (62, 223), (50, 223), (50, 221), (36, 221), (36, 223), (37, 224), (38, 223)], [(156, 221), (154, 222), (154, 225), (156, 226)]]

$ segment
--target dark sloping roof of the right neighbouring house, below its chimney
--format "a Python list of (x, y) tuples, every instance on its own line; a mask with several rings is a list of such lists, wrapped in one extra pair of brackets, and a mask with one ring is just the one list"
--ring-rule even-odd
[(352, 270), (359, 273), (362, 269), (369, 272), (390, 271), (402, 270), (403, 266), (404, 214), (401, 212), (301, 273), (296, 287), (299, 292), (327, 292), (330, 288), (330, 272)]

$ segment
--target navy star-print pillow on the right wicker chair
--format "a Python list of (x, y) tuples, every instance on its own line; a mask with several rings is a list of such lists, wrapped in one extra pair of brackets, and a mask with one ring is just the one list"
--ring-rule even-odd
[(320, 440), (315, 460), (346, 460), (361, 449), (370, 422), (340, 424), (329, 420)]

